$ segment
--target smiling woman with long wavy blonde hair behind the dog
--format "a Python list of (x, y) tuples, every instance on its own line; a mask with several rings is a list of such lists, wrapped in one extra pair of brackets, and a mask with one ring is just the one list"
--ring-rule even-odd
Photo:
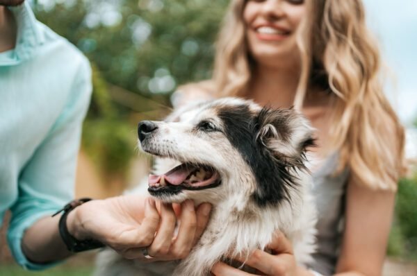
[[(211, 80), (186, 85), (174, 105), (243, 96), (302, 110), (317, 129), (311, 171), (318, 252), (296, 265), (284, 237), (247, 264), (262, 275), (380, 275), (398, 177), (402, 126), (379, 79), (377, 46), (361, 0), (234, 0)], [(219, 263), (214, 275), (248, 275)]]

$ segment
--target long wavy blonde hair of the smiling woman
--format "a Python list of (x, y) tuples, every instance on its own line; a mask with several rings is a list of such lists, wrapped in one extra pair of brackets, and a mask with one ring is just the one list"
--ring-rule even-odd
[[(218, 38), (213, 78), (200, 88), (215, 96), (245, 96), (254, 60), (245, 39), (246, 1), (231, 1)], [(333, 96), (331, 143), (339, 166), (372, 189), (397, 188), (404, 172), (404, 130), (383, 94), (377, 44), (366, 28), (361, 0), (311, 0), (297, 32), (302, 71), (295, 106), (310, 87)]]

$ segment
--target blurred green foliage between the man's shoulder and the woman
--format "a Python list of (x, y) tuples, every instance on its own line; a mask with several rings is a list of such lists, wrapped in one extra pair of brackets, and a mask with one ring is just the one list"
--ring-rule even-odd
[(37, 1), (38, 19), (93, 64), (83, 148), (102, 172), (126, 170), (135, 154), (137, 121), (161, 119), (178, 84), (211, 75), (213, 41), (228, 2)]

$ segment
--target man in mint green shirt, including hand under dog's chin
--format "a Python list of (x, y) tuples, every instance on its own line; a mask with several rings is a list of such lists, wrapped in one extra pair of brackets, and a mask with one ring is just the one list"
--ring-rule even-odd
[[(92, 87), (88, 60), (23, 2), (0, 0), (0, 223), (10, 209), (13, 256), (40, 270), (74, 252), (58, 231), (61, 216), (51, 214), (74, 198)], [(171, 205), (157, 210), (145, 197), (92, 200), (67, 212), (65, 236), (100, 241), (128, 258), (179, 259), (202, 234), (210, 210), (181, 206), (177, 217)], [(173, 239), (177, 218), (181, 228)]]

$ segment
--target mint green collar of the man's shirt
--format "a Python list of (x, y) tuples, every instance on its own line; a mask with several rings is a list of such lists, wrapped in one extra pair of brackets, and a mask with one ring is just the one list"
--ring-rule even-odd
[(44, 42), (40, 25), (26, 0), (21, 6), (10, 7), (17, 22), (15, 49), (0, 53), (0, 66), (16, 65), (31, 58), (35, 50)]

